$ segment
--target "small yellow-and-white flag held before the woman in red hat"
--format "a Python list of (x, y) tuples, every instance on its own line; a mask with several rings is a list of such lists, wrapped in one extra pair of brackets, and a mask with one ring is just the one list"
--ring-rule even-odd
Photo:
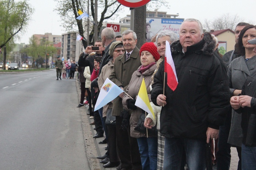
[(140, 86), (139, 94), (137, 96), (135, 105), (146, 111), (148, 114), (151, 114), (153, 118), (155, 119), (155, 114), (153, 112), (153, 109), (150, 105), (150, 101), (147, 96), (147, 89), (146, 84), (144, 81), (144, 78), (142, 79), (142, 83)]

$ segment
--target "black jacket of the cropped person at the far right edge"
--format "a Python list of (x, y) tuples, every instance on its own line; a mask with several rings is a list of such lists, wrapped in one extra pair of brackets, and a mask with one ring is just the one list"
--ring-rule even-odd
[(253, 97), (251, 107), (240, 107), (236, 110), (236, 112), (242, 113), (242, 143), (245, 146), (256, 147), (256, 71), (246, 79), (242, 87), (242, 95)]

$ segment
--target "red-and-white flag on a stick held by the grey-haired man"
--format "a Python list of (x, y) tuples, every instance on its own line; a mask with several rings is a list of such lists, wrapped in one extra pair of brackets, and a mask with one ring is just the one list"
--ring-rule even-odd
[(177, 88), (178, 79), (168, 41), (165, 47), (165, 72), (167, 73), (167, 85), (174, 91)]

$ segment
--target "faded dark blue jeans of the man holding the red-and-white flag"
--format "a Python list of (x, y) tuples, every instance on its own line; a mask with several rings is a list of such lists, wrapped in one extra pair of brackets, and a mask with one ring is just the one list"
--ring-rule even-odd
[[(165, 138), (163, 169), (180, 170), (185, 150), (188, 169), (203, 170), (205, 160), (205, 140), (187, 138)], [(183, 168), (184, 169), (184, 168)]]

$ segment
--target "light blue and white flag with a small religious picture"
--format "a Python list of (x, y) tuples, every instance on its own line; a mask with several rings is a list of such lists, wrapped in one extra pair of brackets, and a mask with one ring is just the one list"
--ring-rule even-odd
[(120, 87), (107, 78), (100, 89), (100, 94), (95, 104), (94, 111), (97, 111), (114, 100), (122, 92), (124, 92), (124, 90), (120, 89)]

